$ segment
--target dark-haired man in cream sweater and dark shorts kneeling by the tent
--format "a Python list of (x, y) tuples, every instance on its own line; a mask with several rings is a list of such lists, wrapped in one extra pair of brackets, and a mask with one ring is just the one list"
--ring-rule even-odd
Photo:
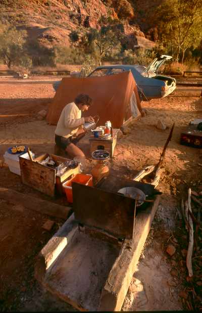
[(72, 158), (75, 156), (85, 157), (84, 153), (75, 144), (78, 138), (73, 139), (73, 135), (84, 133), (82, 125), (85, 122), (93, 122), (91, 116), (81, 117), (81, 112), (87, 111), (92, 104), (92, 99), (88, 95), (78, 95), (74, 102), (67, 104), (58, 120), (55, 130), (56, 145), (65, 150)]

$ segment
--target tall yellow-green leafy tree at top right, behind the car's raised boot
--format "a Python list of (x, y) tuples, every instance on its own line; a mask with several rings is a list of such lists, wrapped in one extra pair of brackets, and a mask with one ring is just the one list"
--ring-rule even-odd
[(172, 47), (176, 61), (202, 39), (202, 0), (166, 0), (161, 6), (161, 39)]

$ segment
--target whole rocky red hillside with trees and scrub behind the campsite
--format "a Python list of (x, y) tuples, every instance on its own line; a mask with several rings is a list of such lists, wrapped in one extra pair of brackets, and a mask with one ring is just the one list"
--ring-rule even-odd
[[(89, 0), (31, 4), (0, 1), (0, 21), (6, 25), (0, 25), (0, 62), (9, 68), (83, 65), (86, 56), (92, 64), (146, 66), (155, 54), (171, 55), (174, 65), (167, 68), (175, 73), (202, 63), (202, 0), (102, 0), (96, 8)], [(136, 48), (142, 31), (156, 41), (156, 49)], [(176, 65), (181, 63), (184, 67)]]

